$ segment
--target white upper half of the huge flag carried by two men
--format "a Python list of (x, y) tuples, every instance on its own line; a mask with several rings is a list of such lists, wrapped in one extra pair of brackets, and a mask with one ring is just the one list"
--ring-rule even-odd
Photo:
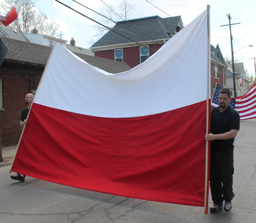
[(207, 100), (207, 10), (152, 57), (119, 74), (102, 71), (56, 43), (34, 103), (83, 115), (129, 118)]

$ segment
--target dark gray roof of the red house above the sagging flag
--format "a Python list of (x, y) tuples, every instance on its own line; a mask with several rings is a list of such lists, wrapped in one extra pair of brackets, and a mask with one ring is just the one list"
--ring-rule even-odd
[[(159, 39), (168, 39), (172, 35), (171, 33), (176, 32), (177, 26), (182, 23), (181, 16), (161, 18), (159, 16), (151, 16), (140, 19), (131, 19), (126, 21), (119, 21), (112, 30), (121, 33), (124, 36), (129, 37), (132, 40), (137, 42), (148, 41), (148, 40), (159, 40)], [(181, 29), (183, 27), (180, 27)], [(131, 31), (134, 30), (137, 33)], [(109, 46), (112, 44), (120, 43), (131, 43), (134, 42), (130, 39), (127, 39), (115, 32), (110, 30), (104, 36), (102, 36), (97, 42), (93, 44), (93, 47)], [(148, 38), (147, 38), (148, 37)]]

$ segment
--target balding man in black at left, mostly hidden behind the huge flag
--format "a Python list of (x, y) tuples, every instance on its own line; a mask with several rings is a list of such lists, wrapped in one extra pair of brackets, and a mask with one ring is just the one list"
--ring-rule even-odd
[[(28, 106), (22, 110), (22, 116), (20, 117), (20, 120), (19, 120), (19, 125), (21, 127), (28, 124), (27, 116), (29, 114), (29, 109), (31, 107), (33, 99), (34, 99), (33, 94), (27, 94), (25, 97), (25, 104), (27, 104)], [(24, 182), (25, 176), (26, 175), (24, 174), (17, 173), (17, 175), (11, 176), (11, 179)]]

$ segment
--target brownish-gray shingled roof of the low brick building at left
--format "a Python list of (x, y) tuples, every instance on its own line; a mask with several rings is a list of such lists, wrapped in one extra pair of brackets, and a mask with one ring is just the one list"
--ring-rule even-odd
[[(52, 47), (43, 46), (31, 42), (20, 41), (7, 37), (1, 37), (8, 47), (4, 61), (25, 63), (30, 65), (45, 66), (50, 56)], [(131, 68), (126, 63), (117, 62), (95, 56), (75, 53), (84, 61), (106, 72), (115, 74), (129, 71)]]

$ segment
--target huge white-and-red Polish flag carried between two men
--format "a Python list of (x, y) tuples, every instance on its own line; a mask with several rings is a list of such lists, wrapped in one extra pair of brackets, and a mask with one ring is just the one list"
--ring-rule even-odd
[(119, 74), (106, 73), (56, 43), (11, 171), (86, 190), (203, 207), (208, 10), (152, 57)]

